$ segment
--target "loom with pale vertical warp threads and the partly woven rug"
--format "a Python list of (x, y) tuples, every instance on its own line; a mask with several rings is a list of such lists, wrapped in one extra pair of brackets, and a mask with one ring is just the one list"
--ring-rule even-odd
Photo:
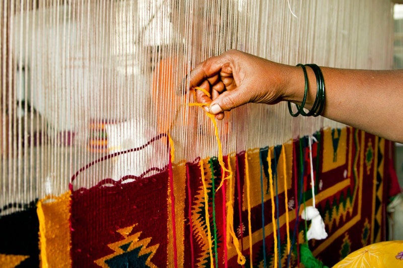
[[(229, 49), (391, 68), (391, 7), (0, 2), (0, 266), (284, 267), (302, 244), (330, 266), (381, 241), (390, 142), (283, 103), (215, 127), (185, 76)], [(328, 237), (308, 242), (315, 196)]]

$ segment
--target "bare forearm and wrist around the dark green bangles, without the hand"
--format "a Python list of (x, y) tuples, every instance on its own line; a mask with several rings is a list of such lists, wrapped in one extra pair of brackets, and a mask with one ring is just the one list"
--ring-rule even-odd
[[(309, 90), (306, 108), (316, 97), (316, 78), (307, 67)], [(322, 116), (369, 133), (403, 142), (403, 70), (352, 70), (321, 67), (325, 82)], [(300, 104), (304, 76), (300, 67), (292, 70), (285, 100)]]

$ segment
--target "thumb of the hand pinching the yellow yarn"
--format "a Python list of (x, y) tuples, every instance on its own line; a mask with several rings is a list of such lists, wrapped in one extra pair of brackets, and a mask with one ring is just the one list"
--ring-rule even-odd
[(224, 111), (230, 111), (236, 107), (248, 103), (249, 100), (242, 88), (237, 87), (232, 91), (225, 91), (210, 104), (210, 113), (217, 115)]

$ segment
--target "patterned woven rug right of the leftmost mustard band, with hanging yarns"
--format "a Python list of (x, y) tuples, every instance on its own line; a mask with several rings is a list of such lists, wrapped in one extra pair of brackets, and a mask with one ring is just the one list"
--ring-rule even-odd
[[(384, 154), (384, 139), (325, 129), (72, 189), (72, 265), (293, 267), (308, 249), (332, 266), (384, 239)], [(313, 205), (327, 237), (307, 241)]]

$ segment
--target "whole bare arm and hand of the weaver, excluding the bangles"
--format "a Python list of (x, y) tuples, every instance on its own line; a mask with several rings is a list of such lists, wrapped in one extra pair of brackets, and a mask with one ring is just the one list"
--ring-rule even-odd
[[(323, 117), (368, 133), (403, 143), (403, 70), (358, 70), (320, 67), (325, 82)], [(310, 109), (316, 96), (316, 78), (306, 67), (309, 90), (305, 107)], [(194, 67), (188, 76), (189, 88), (196, 90), (196, 101), (224, 118), (246, 103), (301, 104), (304, 74), (301, 67), (276, 63), (237, 50), (227, 51)]]

